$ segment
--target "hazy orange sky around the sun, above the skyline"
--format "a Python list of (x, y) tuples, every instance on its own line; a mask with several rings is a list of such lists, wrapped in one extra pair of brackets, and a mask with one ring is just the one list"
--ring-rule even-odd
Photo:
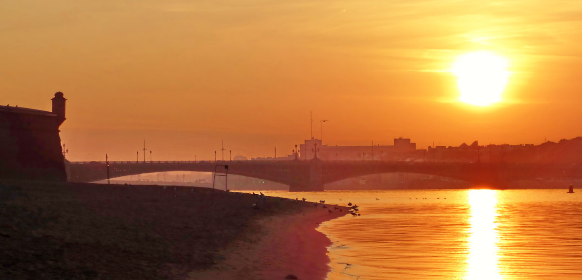
[[(310, 110), (329, 145), (581, 135), (580, 1), (190, 2), (2, 3), (2, 102), (50, 110), (64, 92), (70, 160), (133, 160), (143, 139), (154, 160), (214, 159), (222, 139), (283, 155)], [(456, 101), (448, 70), (471, 51), (509, 60), (502, 103)]]

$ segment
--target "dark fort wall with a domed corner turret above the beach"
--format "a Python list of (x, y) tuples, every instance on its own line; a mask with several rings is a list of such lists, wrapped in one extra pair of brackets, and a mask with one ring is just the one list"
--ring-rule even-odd
[(52, 98), (52, 112), (0, 106), (0, 178), (66, 181), (59, 127), (66, 99)]

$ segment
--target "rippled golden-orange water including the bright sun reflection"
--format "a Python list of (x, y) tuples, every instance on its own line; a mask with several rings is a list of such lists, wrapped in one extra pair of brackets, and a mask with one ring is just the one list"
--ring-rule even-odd
[(359, 206), (318, 229), (328, 279), (582, 279), (582, 191), (264, 193)]

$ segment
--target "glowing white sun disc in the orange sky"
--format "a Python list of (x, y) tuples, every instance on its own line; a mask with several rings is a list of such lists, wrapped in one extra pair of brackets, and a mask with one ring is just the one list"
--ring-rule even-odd
[(457, 58), (451, 72), (457, 77), (460, 102), (488, 106), (502, 100), (509, 80), (508, 60), (491, 52), (471, 52)]

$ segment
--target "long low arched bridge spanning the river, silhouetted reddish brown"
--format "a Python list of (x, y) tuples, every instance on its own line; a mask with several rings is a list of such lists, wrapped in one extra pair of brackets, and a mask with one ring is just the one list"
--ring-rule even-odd
[[(407, 161), (72, 161), (69, 181), (93, 182), (108, 178), (165, 171), (214, 172), (228, 166), (228, 174), (243, 175), (289, 185), (289, 191), (324, 191), (324, 185), (347, 178), (381, 173), (439, 175), (504, 188), (517, 180), (582, 178), (582, 164), (434, 163)], [(109, 171), (107, 170), (109, 169)]]

